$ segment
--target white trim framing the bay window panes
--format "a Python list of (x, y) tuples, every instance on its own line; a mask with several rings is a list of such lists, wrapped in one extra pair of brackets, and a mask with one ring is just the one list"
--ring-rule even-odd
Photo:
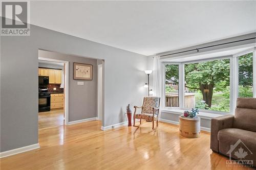
[[(256, 47), (250, 48), (246, 51), (242, 51), (240, 53), (236, 53), (234, 55), (229, 56), (222, 56), (222, 57), (215, 57), (205, 60), (193, 60), (188, 62), (162, 62), (162, 108), (163, 110), (189, 110), (191, 108), (184, 108), (184, 82), (185, 82), (185, 64), (190, 63), (198, 63), (198, 62), (206, 62), (206, 61), (213, 61), (213, 60), (222, 60), (222, 59), (229, 59), (230, 64), (230, 74), (229, 74), (229, 81), (230, 81), (230, 108), (229, 112), (221, 112), (221, 111), (214, 111), (214, 110), (205, 110), (200, 109), (200, 112), (205, 113), (215, 113), (215, 114), (234, 114), (234, 109), (236, 108), (236, 102), (238, 98), (238, 57), (253, 53), (253, 98), (256, 98)], [(167, 64), (177, 64), (179, 65), (179, 107), (165, 107), (165, 66)], [(181, 97), (180, 97), (181, 96)]]

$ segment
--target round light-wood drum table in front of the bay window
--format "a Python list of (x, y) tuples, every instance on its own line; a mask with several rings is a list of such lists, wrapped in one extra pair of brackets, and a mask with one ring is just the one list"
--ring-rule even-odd
[(179, 116), (180, 135), (187, 138), (200, 137), (200, 117), (190, 118)]

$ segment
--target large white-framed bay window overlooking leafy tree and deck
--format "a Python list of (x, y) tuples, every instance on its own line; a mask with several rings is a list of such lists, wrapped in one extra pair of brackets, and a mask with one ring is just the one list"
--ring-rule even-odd
[(232, 114), (237, 98), (256, 96), (255, 47), (240, 54), (182, 61), (163, 62), (163, 108)]

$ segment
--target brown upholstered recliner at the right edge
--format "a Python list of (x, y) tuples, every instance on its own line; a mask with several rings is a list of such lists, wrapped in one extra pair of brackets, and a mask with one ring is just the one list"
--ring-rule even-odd
[(234, 115), (211, 119), (210, 149), (256, 167), (256, 98), (238, 98)]

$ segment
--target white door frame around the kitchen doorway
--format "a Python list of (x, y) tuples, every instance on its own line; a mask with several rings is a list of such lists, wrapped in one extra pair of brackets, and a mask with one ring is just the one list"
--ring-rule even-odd
[(38, 57), (38, 60), (44, 60), (44, 61), (52, 61), (52, 62), (59, 62), (59, 63), (65, 63), (65, 105), (64, 105), (64, 113), (65, 113), (65, 125), (68, 125), (69, 120), (69, 61), (63, 61), (63, 60), (55, 60), (50, 58), (42, 58)]

